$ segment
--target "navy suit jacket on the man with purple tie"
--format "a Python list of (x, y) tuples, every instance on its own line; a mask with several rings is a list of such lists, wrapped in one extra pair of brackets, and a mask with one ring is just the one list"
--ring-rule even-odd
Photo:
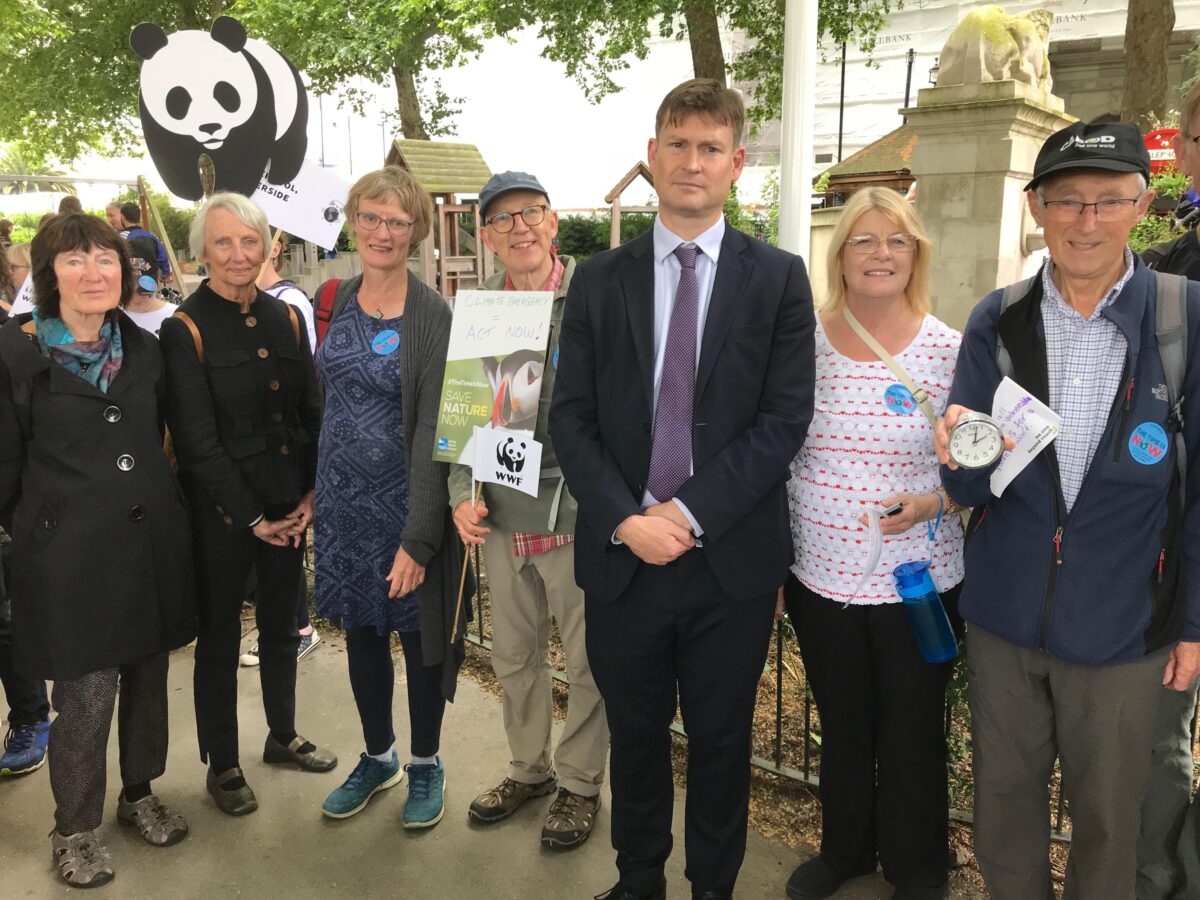
[[(641, 512), (650, 466), (653, 233), (576, 269), (562, 328), (550, 433), (578, 500), (575, 577), (612, 600), (641, 565), (612, 534)], [(786, 482), (812, 420), (812, 332), (803, 260), (726, 227), (696, 370), (694, 474), (677, 497), (734, 599), (774, 592), (792, 563)]]

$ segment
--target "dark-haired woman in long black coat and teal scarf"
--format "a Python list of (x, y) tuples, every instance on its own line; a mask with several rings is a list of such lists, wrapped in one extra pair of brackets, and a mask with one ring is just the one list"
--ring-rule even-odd
[(113, 878), (94, 829), (118, 690), (118, 820), (156, 846), (187, 834), (150, 791), (167, 762), (167, 652), (194, 631), (187, 510), (163, 454), (158, 343), (118, 307), (128, 248), (85, 215), (34, 239), (32, 313), (0, 329), (0, 522), (13, 538), (17, 666), (54, 680), (54, 862)]

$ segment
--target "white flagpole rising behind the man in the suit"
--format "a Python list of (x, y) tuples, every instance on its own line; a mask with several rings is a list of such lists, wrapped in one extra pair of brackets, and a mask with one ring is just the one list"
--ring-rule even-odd
[(779, 246), (811, 270), (812, 131), (816, 118), (817, 0), (787, 0), (784, 20)]

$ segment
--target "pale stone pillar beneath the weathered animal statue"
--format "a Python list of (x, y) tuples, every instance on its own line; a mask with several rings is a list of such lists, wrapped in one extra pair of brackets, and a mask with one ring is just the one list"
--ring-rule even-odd
[(971, 308), (1040, 264), (1022, 187), (1043, 142), (1074, 121), (1058, 97), (1020, 82), (926, 88), (905, 109), (917, 132), (917, 210), (936, 250), (934, 314), (962, 329)]

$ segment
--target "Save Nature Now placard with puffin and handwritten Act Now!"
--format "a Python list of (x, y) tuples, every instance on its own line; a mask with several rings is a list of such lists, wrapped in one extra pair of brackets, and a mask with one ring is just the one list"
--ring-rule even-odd
[(548, 290), (460, 290), (438, 403), (433, 458), (472, 466), (478, 431), (533, 434), (547, 365)]

